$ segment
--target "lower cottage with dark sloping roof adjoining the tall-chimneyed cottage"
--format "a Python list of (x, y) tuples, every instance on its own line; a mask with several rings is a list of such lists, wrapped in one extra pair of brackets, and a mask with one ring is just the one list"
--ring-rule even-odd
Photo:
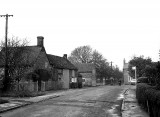
[(63, 89), (70, 88), (72, 79), (77, 78), (77, 68), (67, 59), (67, 54), (63, 57), (47, 54), (50, 65), (57, 73), (57, 80), (63, 84)]

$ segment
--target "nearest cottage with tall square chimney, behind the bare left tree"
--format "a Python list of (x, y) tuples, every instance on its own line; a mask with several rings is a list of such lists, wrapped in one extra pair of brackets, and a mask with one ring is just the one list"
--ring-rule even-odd
[[(18, 81), (22, 84), (26, 84), (30, 87), (27, 88), (30, 91), (40, 91), (41, 90), (41, 79), (45, 79), (46, 73), (39, 74), (39, 79), (37, 81), (37, 85), (35, 83), (27, 84), (26, 81), (34, 80), (32, 73), (37, 73), (40, 70), (51, 71), (49, 66), (49, 61), (46, 56), (46, 50), (43, 45), (43, 37), (37, 37), (37, 45), (36, 46), (23, 46), (23, 47), (8, 47), (8, 67), (12, 69), (11, 77), (15, 77), (19, 75)], [(1, 54), (4, 57), (4, 49), (2, 49)], [(4, 68), (4, 59), (1, 57), (0, 67)], [(3, 61), (3, 62), (2, 62)], [(28, 74), (30, 74), (28, 76)], [(38, 73), (37, 73), (38, 74)], [(23, 75), (23, 76), (22, 76)], [(19, 83), (18, 82), (18, 83)]]

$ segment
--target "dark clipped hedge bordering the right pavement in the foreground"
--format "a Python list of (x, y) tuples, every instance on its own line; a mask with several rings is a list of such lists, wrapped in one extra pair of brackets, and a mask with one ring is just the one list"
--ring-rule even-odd
[(160, 90), (156, 86), (138, 83), (136, 98), (140, 106), (149, 112), (150, 117), (160, 117)]

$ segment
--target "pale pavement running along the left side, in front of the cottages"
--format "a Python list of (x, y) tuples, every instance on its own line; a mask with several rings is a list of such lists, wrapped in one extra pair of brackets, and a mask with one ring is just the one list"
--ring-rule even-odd
[[(86, 90), (86, 89), (81, 89), (81, 90)], [(47, 91), (46, 95), (37, 96), (37, 97), (25, 97), (25, 98), (1, 97), (4, 100), (8, 100), (9, 103), (0, 104), (0, 113), (13, 110), (19, 107), (23, 107), (26, 105), (30, 105), (33, 103), (45, 101), (51, 98), (56, 98), (56, 97), (65, 95), (70, 92), (75, 92), (75, 91), (77, 90), (69, 89), (69, 90), (60, 90), (60, 91)]]

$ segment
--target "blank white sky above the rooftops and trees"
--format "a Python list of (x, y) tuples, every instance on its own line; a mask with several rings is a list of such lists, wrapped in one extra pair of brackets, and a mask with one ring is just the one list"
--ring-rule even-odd
[[(0, 15), (9, 17), (8, 37), (37, 44), (44, 36), (48, 54), (63, 56), (90, 45), (113, 66), (133, 56), (159, 60), (159, 0), (3, 0)], [(0, 41), (5, 18), (0, 17)]]

